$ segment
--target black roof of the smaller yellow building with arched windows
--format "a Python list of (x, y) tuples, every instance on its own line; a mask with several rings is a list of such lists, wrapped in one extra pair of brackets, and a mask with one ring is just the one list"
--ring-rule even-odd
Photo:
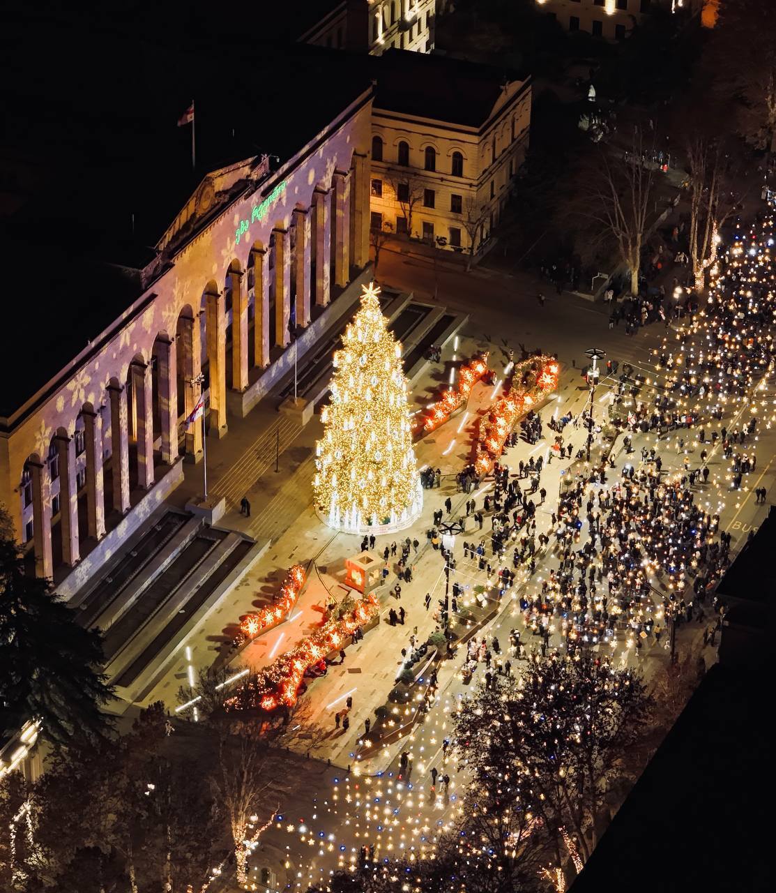
[(453, 56), (390, 49), (369, 56), (376, 79), (375, 108), (481, 128), (513, 71)]

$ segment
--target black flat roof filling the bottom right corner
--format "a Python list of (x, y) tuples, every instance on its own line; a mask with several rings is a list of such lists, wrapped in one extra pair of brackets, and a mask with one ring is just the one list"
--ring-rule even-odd
[(570, 893), (772, 889), (772, 679), (714, 665)]

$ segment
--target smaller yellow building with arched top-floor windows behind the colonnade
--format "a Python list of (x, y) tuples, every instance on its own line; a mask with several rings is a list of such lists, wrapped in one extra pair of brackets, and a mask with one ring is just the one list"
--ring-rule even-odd
[[(417, 63), (405, 72), (406, 88), (428, 83), (425, 106), (435, 113), (418, 113), (405, 102), (393, 69), (377, 77), (370, 226), (450, 250), (468, 252), (474, 246), (476, 251), (499, 221), (524, 161), (531, 84), (456, 60), (421, 58)], [(435, 96), (435, 85), (452, 71), (457, 72), (452, 92), (461, 102)]]

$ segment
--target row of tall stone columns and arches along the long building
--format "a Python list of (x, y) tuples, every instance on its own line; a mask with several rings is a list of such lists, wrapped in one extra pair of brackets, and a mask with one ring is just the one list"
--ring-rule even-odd
[[(233, 260), (229, 264), (224, 288), (205, 284), (201, 301), (179, 310), (176, 330), (155, 334), (153, 345), (146, 345), (129, 364), (126, 380), (110, 380), (102, 405), (85, 403), (75, 430), (57, 430), (48, 455), (29, 455), (21, 479), (21, 508), (22, 517), (25, 512), (29, 517), (31, 503), (28, 535), (33, 540), (37, 576), (54, 575), (55, 480), (59, 481), (62, 563), (73, 566), (80, 558), (82, 538), (103, 538), (106, 529), (131, 510), (133, 492), (142, 496), (153, 487), (155, 442), (161, 442), (158, 461), (166, 465), (177, 461), (179, 409), (185, 418), (199, 400), (200, 386), (193, 382), (202, 371), (202, 347), (208, 364), (210, 433), (223, 436), (227, 432), (227, 325), (231, 326), (232, 389), (244, 392), (252, 383), (251, 309), (252, 367), (263, 370), (271, 361), (271, 348), (285, 348), (290, 342), (292, 307), (296, 327), (306, 327), (312, 302), (318, 307), (329, 304), (332, 272), (334, 286), (344, 288), (351, 279), (351, 267), (361, 269), (368, 263), (368, 171), (366, 154), (353, 156), (350, 171), (334, 171), (332, 185), (315, 188), (310, 206), (293, 209), (287, 225), (272, 230), (268, 245), (255, 242), (244, 263)], [(250, 271), (252, 282), (246, 275)], [(189, 286), (196, 294), (196, 283)], [(225, 306), (227, 292), (231, 293), (231, 323)], [(183, 444), (187, 456), (194, 461), (201, 457), (201, 424), (186, 429)]]

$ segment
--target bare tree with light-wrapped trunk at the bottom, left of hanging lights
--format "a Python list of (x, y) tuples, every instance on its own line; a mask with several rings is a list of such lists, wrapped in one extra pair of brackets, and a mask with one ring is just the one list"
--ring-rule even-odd
[[(277, 815), (283, 773), (268, 747), (252, 734), (222, 738), (213, 789), (227, 813), (235, 847), (237, 883), (248, 882), (248, 855)], [(266, 805), (266, 801), (274, 805)]]

